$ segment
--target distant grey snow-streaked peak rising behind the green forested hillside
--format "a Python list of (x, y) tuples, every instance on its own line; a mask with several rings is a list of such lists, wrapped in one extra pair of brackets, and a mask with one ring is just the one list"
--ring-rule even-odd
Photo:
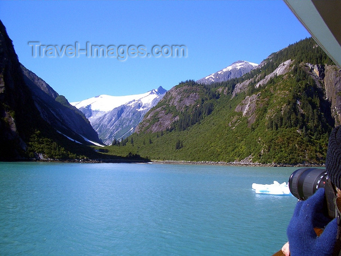
[(257, 67), (258, 64), (248, 62), (245, 60), (238, 60), (233, 62), (228, 67), (215, 72), (205, 78), (199, 79), (197, 83), (210, 84), (213, 82), (224, 82), (229, 79), (240, 78), (244, 74), (250, 72), (252, 69)]

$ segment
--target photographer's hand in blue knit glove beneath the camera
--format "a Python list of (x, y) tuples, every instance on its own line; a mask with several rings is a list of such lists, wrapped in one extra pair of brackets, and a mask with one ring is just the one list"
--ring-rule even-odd
[[(329, 256), (333, 254), (338, 225), (322, 213), (324, 189), (319, 188), (305, 201), (299, 201), (290, 220), (286, 234), (291, 256)], [(329, 223), (328, 223), (329, 222)], [(317, 237), (314, 227), (325, 227)]]

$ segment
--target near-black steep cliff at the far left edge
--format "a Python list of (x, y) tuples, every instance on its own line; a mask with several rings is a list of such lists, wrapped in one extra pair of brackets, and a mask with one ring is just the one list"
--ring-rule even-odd
[(38, 115), (12, 41), (0, 21), (0, 160), (24, 157)]

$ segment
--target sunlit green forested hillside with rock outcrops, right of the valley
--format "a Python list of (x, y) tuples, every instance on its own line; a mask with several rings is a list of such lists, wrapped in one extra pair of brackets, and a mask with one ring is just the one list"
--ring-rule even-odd
[(340, 124), (341, 71), (309, 38), (238, 79), (179, 83), (108, 147), (151, 159), (323, 163)]

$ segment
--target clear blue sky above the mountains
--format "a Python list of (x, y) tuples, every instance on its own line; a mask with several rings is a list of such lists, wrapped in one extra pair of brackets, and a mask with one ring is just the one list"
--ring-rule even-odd
[[(0, 20), (19, 61), (68, 100), (140, 94), (200, 79), (236, 60), (260, 63), (310, 37), (281, 0), (4, 1)], [(43, 45), (185, 45), (186, 58), (32, 56)]]

